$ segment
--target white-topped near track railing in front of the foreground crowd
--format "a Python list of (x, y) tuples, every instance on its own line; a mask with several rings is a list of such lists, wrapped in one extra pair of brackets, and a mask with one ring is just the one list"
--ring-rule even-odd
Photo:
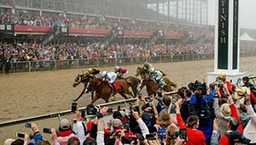
[[(132, 102), (136, 102), (136, 98), (132, 99), (127, 99), (127, 100), (121, 100), (121, 101), (116, 101), (116, 102), (108, 102), (108, 103), (103, 103), (99, 104), (97, 106), (99, 107), (110, 107), (110, 106), (120, 106), (120, 105), (125, 105), (125, 107), (122, 107), (121, 109), (125, 109), (130, 107)], [(86, 107), (81, 107), (79, 110), (86, 110)], [(50, 118), (56, 118), (56, 117), (61, 117), (61, 116), (66, 116), (72, 114), (71, 110), (66, 110), (66, 111), (61, 111), (57, 113), (46, 113), (38, 116), (32, 116), (28, 118), (23, 118), (23, 119), (14, 119), (6, 122), (0, 123), (0, 127), (6, 127), (10, 125), (18, 125), (26, 122), (31, 122), (31, 121), (37, 121), (37, 120), (42, 120), (42, 119), (50, 119)], [(90, 119), (92, 117), (95, 117), (95, 115), (85, 115), (84, 119)]]

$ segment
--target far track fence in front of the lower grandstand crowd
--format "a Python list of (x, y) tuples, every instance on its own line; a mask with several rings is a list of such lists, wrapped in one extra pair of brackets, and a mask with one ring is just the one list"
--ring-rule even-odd
[[(9, 63), (9, 73), (55, 71), (61, 69), (84, 68), (84, 67), (110, 67), (116, 65), (135, 65), (145, 61), (150, 63), (173, 62), (173, 61), (200, 61), (213, 59), (213, 55), (157, 55), (140, 57), (97, 58), (97, 59), (74, 59), (74, 60), (48, 60), (48, 61), (19, 61)], [(7, 64), (0, 62), (0, 73), (4, 73)]]

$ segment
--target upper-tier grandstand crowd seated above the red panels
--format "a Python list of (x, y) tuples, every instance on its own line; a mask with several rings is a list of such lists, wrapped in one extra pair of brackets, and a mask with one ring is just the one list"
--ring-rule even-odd
[[(18, 11), (16, 14), (5, 13), (0, 15), (1, 24), (25, 26), (68, 26), (79, 28), (111, 29), (118, 27), (125, 31), (155, 32), (161, 30), (166, 33), (187, 34), (196, 38), (213, 38), (213, 29), (210, 26), (183, 26), (174, 23), (159, 23), (143, 20), (125, 20), (116, 18), (92, 17), (75, 14), (42, 14), (32, 11)], [(203, 36), (202, 36), (203, 35)]]

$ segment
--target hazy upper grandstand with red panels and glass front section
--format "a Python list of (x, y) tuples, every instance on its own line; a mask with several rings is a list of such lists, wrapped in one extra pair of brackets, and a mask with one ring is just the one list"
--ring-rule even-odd
[(0, 2), (0, 14), (6, 27), (1, 33), (9, 34), (1, 41), (49, 44), (93, 36), (104, 44), (116, 38), (148, 38), (152, 43), (213, 32), (205, 26), (207, 1), (202, 0), (6, 0)]

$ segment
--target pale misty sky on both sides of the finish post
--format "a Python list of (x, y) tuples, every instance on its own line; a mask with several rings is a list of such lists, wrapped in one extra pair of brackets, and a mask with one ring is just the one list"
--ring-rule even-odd
[[(209, 24), (214, 25), (215, 3), (217, 0), (209, 0)], [(256, 0), (239, 0), (240, 3), (240, 27), (256, 29)]]

